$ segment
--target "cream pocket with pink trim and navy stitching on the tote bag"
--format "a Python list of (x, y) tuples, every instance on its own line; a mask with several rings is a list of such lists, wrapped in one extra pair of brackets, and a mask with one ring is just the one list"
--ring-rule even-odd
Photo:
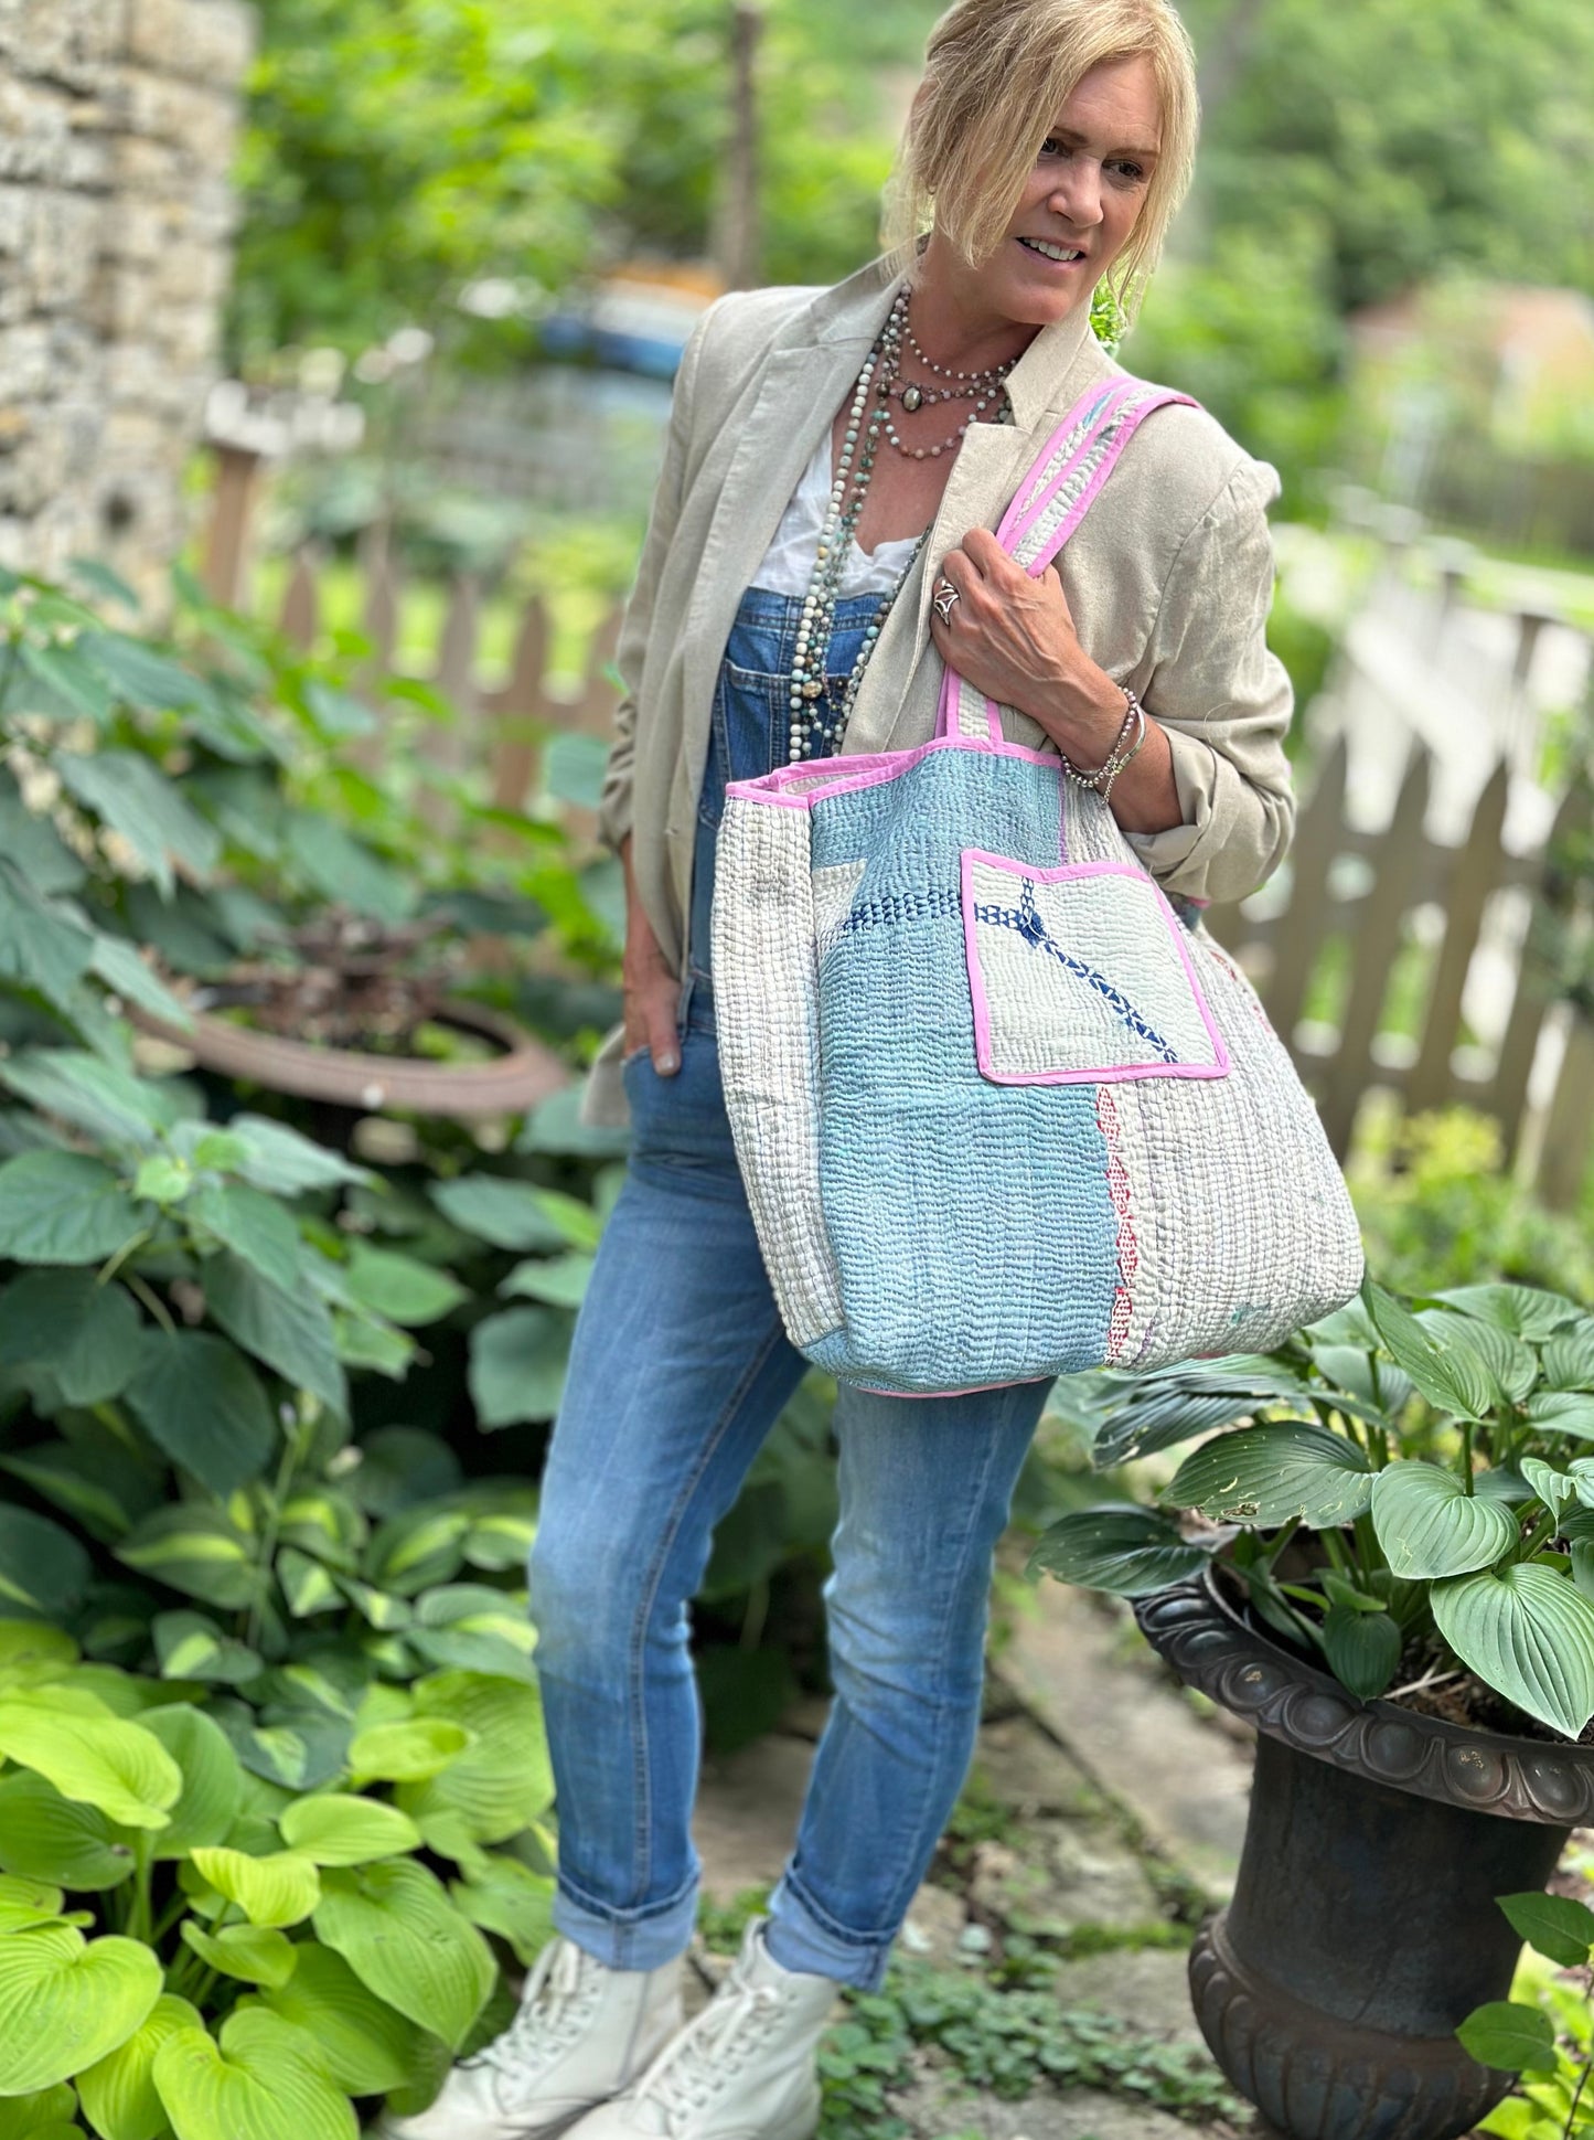
[(1143, 869), (963, 850), (974, 1046), (995, 1085), (1226, 1076), (1183, 929)]

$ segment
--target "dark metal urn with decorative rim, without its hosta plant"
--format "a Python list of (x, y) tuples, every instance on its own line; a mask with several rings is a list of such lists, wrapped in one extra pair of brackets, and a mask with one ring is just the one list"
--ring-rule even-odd
[(1235, 1900), (1190, 1956), (1213, 2057), (1288, 2140), (1455, 2140), (1511, 2078), (1455, 2039), (1504, 1999), (1500, 1894), (1543, 1887), (1594, 1817), (1594, 1746), (1357, 1701), (1211, 1575), (1136, 1603), (1187, 1686), (1258, 1731)]

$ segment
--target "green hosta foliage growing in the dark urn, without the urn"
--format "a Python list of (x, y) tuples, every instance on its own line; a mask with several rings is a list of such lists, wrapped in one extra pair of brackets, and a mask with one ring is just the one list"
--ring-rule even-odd
[(1577, 1738), (1594, 1716), (1588, 1308), (1528, 1286), (1406, 1303), (1369, 1282), (1273, 1355), (1072, 1397), (1102, 1466), (1196, 1447), (1158, 1507), (1055, 1524), (1038, 1569), (1138, 1596), (1217, 1558), (1352, 1695), (1421, 1680), (1466, 1701), (1481, 1682), (1504, 1729)]

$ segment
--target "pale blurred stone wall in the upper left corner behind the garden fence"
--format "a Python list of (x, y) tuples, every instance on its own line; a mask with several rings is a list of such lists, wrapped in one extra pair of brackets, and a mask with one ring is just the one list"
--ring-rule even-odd
[(214, 377), (242, 0), (0, 0), (0, 563), (156, 593)]

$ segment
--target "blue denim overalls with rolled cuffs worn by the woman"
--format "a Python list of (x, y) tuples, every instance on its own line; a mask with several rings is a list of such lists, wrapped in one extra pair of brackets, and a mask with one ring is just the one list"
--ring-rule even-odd
[[(725, 766), (740, 777), (777, 749), (785, 758), (798, 608), (755, 591), (730, 638), (704, 783), (712, 817), (698, 839), (710, 895)], [(849, 603), (843, 621), (873, 608)], [(839, 655), (845, 666), (845, 642)], [(614, 1969), (657, 1969), (691, 1939), (700, 1712), (687, 1601), (807, 1370), (736, 1168), (706, 937), (693, 937), (678, 1074), (661, 1079), (646, 1053), (625, 1066), (631, 1168), (576, 1327), (531, 1558), (558, 1785), (554, 1924)], [(884, 1975), (974, 1751), (991, 1556), (1044, 1395), (1042, 1382), (839, 1395), (826, 1584), (837, 1695), (770, 1902), (770, 1954), (787, 1969), (856, 1986)]]

